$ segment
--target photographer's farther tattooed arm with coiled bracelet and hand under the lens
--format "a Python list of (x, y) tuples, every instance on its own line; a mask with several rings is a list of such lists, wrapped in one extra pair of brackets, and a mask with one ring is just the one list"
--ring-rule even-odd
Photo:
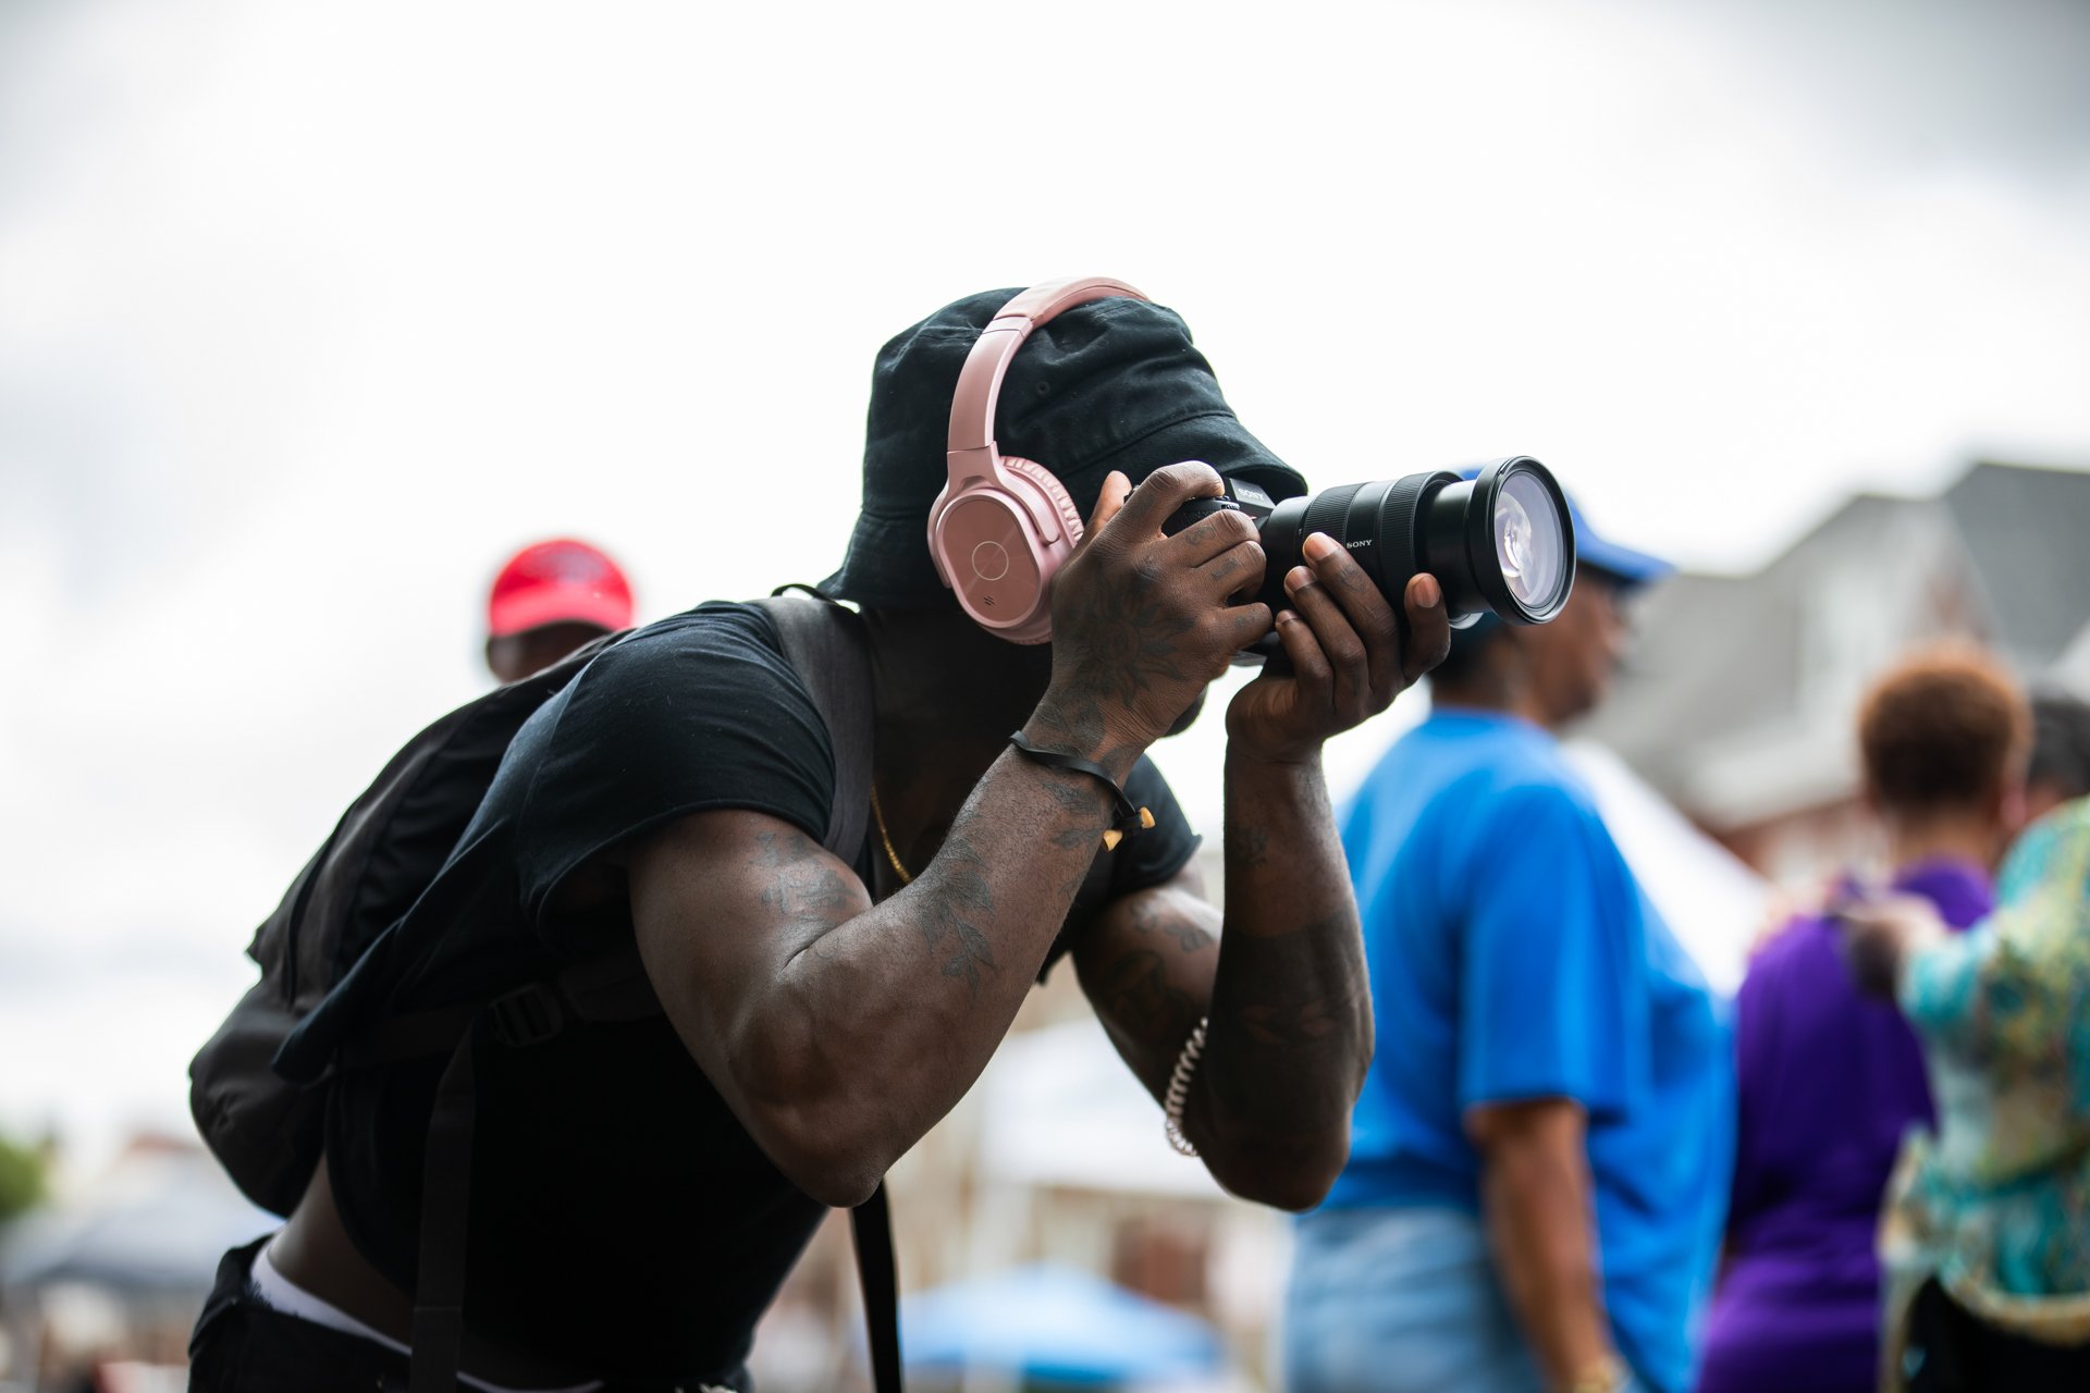
[[(1074, 948), (1120, 1055), (1160, 1099), (1198, 1017), (1210, 1017), (1183, 1128), (1235, 1195), (1308, 1209), (1350, 1149), (1371, 1063), (1371, 998), (1321, 741), (1386, 708), (1448, 643), (1442, 593), (1417, 576), (1407, 631), (1325, 537), (1285, 579), (1277, 618), (1292, 672), (1264, 672), (1227, 712), (1227, 917), (1193, 886), (1129, 896)], [(1170, 944), (1175, 948), (1170, 950)]]

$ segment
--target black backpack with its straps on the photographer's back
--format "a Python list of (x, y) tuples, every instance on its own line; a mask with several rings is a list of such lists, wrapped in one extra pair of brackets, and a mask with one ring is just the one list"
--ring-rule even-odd
[[(790, 587), (786, 587), (790, 589)], [(855, 860), (872, 785), (869, 658), (853, 614), (821, 597), (754, 601), (775, 624), (784, 658), (813, 695), (836, 760), (823, 846)], [(508, 743), (543, 702), (627, 635), (606, 635), (562, 662), (449, 712), (410, 739), (341, 817), (291, 881), (247, 954), (261, 982), (188, 1065), (190, 1111), (240, 1190), (288, 1215), (324, 1151), (326, 1088), (336, 1069), (449, 1055), (428, 1124), (422, 1176), (420, 1282), (414, 1293), (412, 1393), (456, 1389), (462, 1341), (464, 1247), (470, 1215), (472, 1050), (481, 1032), (533, 1044), (566, 1023), (660, 1013), (633, 948), (577, 963), (548, 982), (489, 982), (485, 1000), (374, 1023), (314, 1082), (276, 1071), (276, 1053), (391, 923), (441, 871), (479, 810)], [(886, 1195), (851, 1213), (863, 1280), (872, 1372), (897, 1393), (899, 1322)]]

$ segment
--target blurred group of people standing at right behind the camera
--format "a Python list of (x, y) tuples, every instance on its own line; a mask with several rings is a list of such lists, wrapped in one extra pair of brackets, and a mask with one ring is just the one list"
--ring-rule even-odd
[(1287, 1387), (2090, 1387), (2090, 706), (1889, 664), (1877, 856), (1728, 1011), (1553, 735), (1657, 579), (1578, 537), (1568, 612), (1461, 633), (1348, 812), (1379, 1046)]

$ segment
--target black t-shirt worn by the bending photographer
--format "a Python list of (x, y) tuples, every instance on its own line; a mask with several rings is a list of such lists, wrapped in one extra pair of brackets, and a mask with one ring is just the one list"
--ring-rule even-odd
[[(1097, 856), (1053, 959), (1104, 904), (1166, 881), (1195, 850), (1152, 762), (1127, 792), (1156, 827)], [(660, 620), (522, 725), (443, 873), (293, 1050), (629, 948), (629, 906), (587, 921), (545, 913), (589, 858), (704, 808), (767, 812), (817, 842), (832, 798), (828, 729), (767, 614), (709, 604)], [(869, 846), (857, 873), (869, 883)], [(328, 1103), (343, 1222), (405, 1291), (443, 1063), (343, 1071)], [(479, 1053), (466, 1324), (487, 1339), (610, 1378), (725, 1374), (821, 1213), (665, 1017)]]

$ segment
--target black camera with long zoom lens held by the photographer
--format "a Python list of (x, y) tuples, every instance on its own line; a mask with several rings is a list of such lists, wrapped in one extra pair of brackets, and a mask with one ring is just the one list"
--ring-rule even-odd
[[(1271, 612), (1290, 606), (1285, 572), (1315, 533), (1342, 543), (1402, 614), (1409, 579), (1430, 572), (1444, 587), (1453, 629), (1496, 614), (1511, 624), (1545, 624), (1574, 589), (1574, 522), (1551, 470), (1530, 455), (1482, 466), (1471, 478), (1448, 470), (1338, 485), (1273, 499), (1246, 478), (1229, 478), (1221, 497), (1191, 499), (1162, 530), (1170, 537), (1216, 512), (1256, 522), (1267, 566), (1260, 599)], [(1275, 635), (1256, 650), (1277, 652)], [(1244, 654), (1254, 660), (1256, 650)]]

